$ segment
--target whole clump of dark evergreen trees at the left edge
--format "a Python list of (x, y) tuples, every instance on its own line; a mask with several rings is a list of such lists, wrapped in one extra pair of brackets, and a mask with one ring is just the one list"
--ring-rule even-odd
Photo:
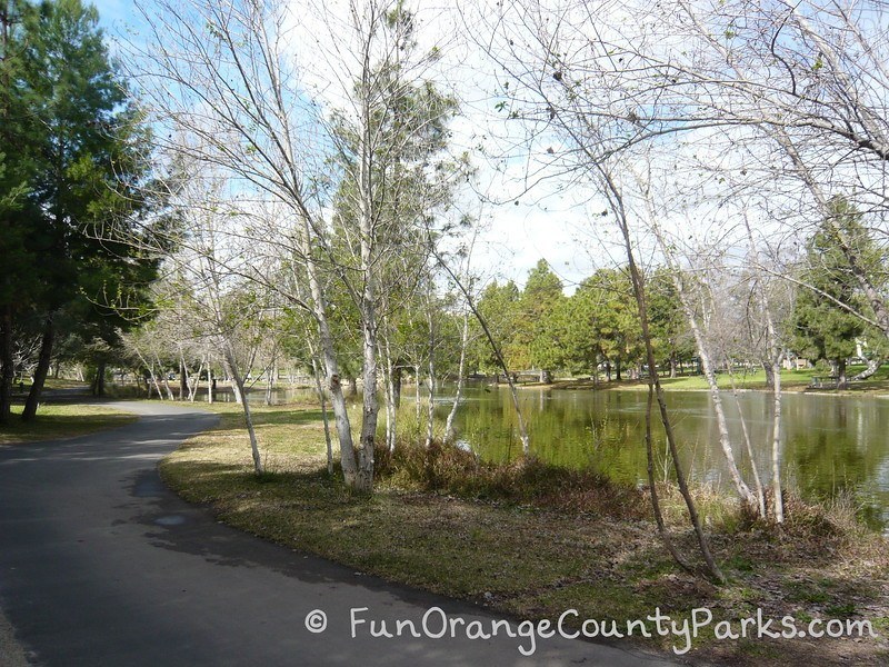
[[(154, 278), (127, 242), (150, 207), (150, 135), (108, 54), (98, 14), (79, 0), (0, 8), (0, 421), (10, 418), (16, 349), (36, 415), (59, 341), (103, 390)], [(127, 237), (112, 238), (116, 226)], [(34, 341), (29, 345), (28, 341)], [(38, 342), (39, 341), (39, 342)]]

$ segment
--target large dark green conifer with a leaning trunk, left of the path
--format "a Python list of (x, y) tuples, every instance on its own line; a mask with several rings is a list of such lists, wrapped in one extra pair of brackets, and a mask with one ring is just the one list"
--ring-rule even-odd
[[(21, 110), (21, 119), (4, 129), (27, 146), (27, 168), (13, 175), (26, 195), (4, 227), (17, 228), (12, 256), (39, 261), (16, 262), (20, 273), (12, 276), (12, 289), (4, 286), (0, 308), (4, 321), (26, 305), (42, 313), (40, 356), (23, 411), (29, 419), (52, 358), (60, 312), (82, 309), (84, 321), (110, 342), (112, 306), (131, 305), (134, 295), (127, 286), (147, 282), (154, 265), (107, 232), (126, 226), (143, 203), (139, 186), (148, 169), (147, 135), (111, 64), (96, 9), (80, 0), (13, 7), (18, 28), (7, 49), (17, 53), (17, 64), (3, 70), (4, 99), (8, 109)], [(6, 376), (4, 365), (4, 381)]]

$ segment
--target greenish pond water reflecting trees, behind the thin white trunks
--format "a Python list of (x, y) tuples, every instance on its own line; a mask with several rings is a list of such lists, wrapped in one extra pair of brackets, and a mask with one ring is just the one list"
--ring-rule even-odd
[[(452, 396), (453, 387), (446, 386), (437, 399), (442, 419), (450, 409), (449, 392)], [(411, 394), (412, 388), (406, 387), (408, 404), (412, 404)], [(264, 400), (264, 391), (249, 396), (251, 402)], [(540, 459), (560, 466), (592, 467), (629, 484), (647, 484), (646, 396), (646, 391), (519, 390), (531, 449)], [(680, 458), (690, 478), (729, 489), (731, 478), (707, 392), (669, 391), (666, 397)], [(231, 397), (222, 394), (220, 398)], [(752, 486), (738, 407), (730, 395), (725, 399), (736, 458)], [(274, 400), (311, 401), (314, 392), (279, 389)], [(766, 392), (742, 392), (739, 405), (757, 467), (767, 484), (771, 469), (771, 397)], [(657, 406), (652, 424), (657, 475), (671, 478), (672, 468), (665, 466), (669, 459)], [(456, 425), (461, 442), (482, 458), (506, 461), (521, 454), (516, 412), (505, 386), (466, 388)], [(810, 499), (851, 492), (872, 526), (889, 529), (889, 397), (786, 394), (782, 425), (787, 486)]]

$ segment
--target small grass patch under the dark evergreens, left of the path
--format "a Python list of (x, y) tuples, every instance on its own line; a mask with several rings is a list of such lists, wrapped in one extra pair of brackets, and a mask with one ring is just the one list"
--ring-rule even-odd
[(33, 421), (20, 419), (22, 406), (12, 406), (9, 424), (0, 425), (0, 445), (71, 438), (136, 421), (134, 415), (102, 405), (42, 405)]

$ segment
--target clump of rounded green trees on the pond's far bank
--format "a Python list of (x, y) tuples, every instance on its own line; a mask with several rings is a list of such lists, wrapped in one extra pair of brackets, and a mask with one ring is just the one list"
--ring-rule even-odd
[[(695, 369), (691, 332), (666, 268), (648, 282), (651, 332), (657, 371), (677, 377)], [(567, 377), (600, 375), (607, 381), (640, 378), (648, 372), (632, 283), (623, 268), (599, 269), (566, 296), (546, 260), (528, 275), (523, 289), (515, 282), (490, 282), (479, 309), (496, 331), (513, 370), (549, 369)], [(476, 337), (470, 368), (483, 374), (500, 369), (490, 346)]]

